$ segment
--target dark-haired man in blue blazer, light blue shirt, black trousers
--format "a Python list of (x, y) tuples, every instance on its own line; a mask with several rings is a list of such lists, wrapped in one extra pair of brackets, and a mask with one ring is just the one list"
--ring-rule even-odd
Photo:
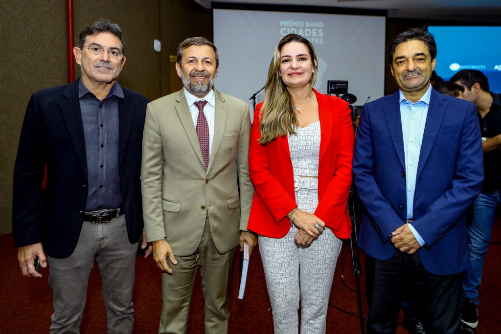
[(483, 179), (476, 109), (431, 87), (436, 45), (427, 32), (399, 34), (387, 55), (400, 89), (364, 106), (353, 158), (368, 332), (395, 332), (405, 282), (422, 296), (427, 331), (458, 333), (465, 211)]

